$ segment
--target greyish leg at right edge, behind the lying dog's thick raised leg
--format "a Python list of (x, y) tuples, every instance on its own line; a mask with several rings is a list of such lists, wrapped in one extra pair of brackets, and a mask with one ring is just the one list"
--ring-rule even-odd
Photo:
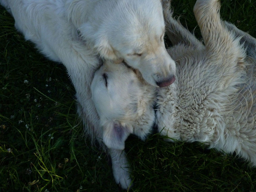
[(250, 36), (248, 33), (239, 30), (235, 25), (228, 23), (227, 21), (223, 22), (226, 27), (235, 33), (235, 36), (240, 39), (240, 43), (246, 48), (247, 55), (254, 57), (256, 59), (256, 38)]

